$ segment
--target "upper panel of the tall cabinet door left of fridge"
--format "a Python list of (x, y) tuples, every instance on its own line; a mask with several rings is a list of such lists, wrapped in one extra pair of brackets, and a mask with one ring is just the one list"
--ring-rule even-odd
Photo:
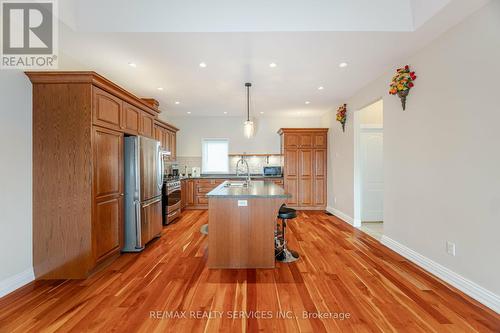
[(94, 196), (123, 192), (123, 134), (94, 128)]

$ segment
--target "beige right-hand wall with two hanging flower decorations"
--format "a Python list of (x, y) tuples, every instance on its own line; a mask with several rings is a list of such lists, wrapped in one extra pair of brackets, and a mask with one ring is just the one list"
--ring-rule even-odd
[[(388, 94), (387, 72), (347, 101), (384, 100), (384, 233), (500, 295), (500, 2), (444, 33), (406, 63), (418, 78), (407, 100)], [(353, 216), (352, 114), (330, 123), (329, 206)], [(334, 202), (334, 197), (337, 202)], [(456, 256), (445, 242), (456, 243)], [(498, 301), (498, 298), (496, 298)]]

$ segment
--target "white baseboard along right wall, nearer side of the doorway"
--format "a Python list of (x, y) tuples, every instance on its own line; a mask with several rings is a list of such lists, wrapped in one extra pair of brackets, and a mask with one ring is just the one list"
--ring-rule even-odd
[(496, 313), (500, 313), (500, 296), (495, 293), (385, 235), (382, 236), (381, 243), (426, 271), (436, 275), (438, 278), (449, 283), (464, 294), (489, 307)]

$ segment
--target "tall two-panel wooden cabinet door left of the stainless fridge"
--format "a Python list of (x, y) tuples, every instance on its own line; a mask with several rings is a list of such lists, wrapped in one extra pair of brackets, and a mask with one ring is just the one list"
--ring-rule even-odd
[(93, 151), (92, 239), (100, 261), (118, 253), (123, 242), (123, 134), (94, 127)]

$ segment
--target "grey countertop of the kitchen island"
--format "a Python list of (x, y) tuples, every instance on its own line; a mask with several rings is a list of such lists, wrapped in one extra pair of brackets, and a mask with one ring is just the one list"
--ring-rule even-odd
[(283, 187), (273, 182), (252, 181), (248, 187), (227, 187), (228, 181), (207, 193), (209, 198), (290, 198)]

